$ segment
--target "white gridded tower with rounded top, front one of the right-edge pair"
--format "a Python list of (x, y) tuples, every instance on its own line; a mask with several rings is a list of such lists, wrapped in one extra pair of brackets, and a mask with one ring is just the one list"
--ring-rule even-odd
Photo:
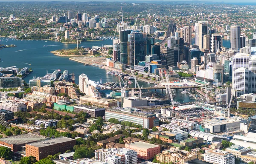
[[(233, 90), (243, 91), (244, 94), (249, 92), (249, 71), (245, 68), (238, 68), (233, 72), (232, 77)], [(240, 96), (240, 95), (236, 95)]]

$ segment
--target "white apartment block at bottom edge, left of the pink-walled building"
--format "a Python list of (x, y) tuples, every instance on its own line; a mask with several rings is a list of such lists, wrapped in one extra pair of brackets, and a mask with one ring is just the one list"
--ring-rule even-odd
[(137, 164), (137, 152), (125, 148), (99, 149), (95, 151), (97, 161), (108, 164)]

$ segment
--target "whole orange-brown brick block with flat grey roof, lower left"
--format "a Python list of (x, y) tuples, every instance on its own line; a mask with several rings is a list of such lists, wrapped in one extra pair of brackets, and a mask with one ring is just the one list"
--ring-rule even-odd
[(51, 138), (47, 141), (38, 141), (26, 144), (26, 156), (34, 156), (36, 160), (46, 158), (48, 155), (55, 155), (72, 150), (76, 145), (76, 140), (67, 137)]

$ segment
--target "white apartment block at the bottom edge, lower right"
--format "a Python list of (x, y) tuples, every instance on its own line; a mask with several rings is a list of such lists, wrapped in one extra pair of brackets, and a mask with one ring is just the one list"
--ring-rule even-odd
[(223, 150), (210, 150), (204, 153), (204, 161), (215, 164), (235, 164), (236, 156)]

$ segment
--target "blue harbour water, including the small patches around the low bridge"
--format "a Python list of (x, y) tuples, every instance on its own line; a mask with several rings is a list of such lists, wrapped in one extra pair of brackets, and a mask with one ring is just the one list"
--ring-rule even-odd
[[(4, 48), (0, 50), (0, 67), (9, 67), (17, 66), (18, 68), (29, 67), (33, 69), (33, 72), (26, 76), (23, 80), (27, 83), (29, 79), (32, 79), (34, 76), (44, 76), (48, 72), (53, 72), (56, 69), (61, 69), (63, 72), (65, 69), (69, 73), (74, 72), (76, 76), (76, 83), (79, 83), (78, 76), (82, 73), (86, 74), (93, 81), (105, 82), (117, 82), (119, 81), (118, 77), (114, 75), (106, 75), (108, 70), (101, 69), (96, 66), (84, 66), (81, 63), (69, 60), (68, 57), (59, 57), (51, 53), (51, 51), (58, 49), (73, 49), (76, 47), (76, 44), (61, 43), (55, 41), (47, 42), (45, 40), (12, 40), (6, 38), (0, 38), (1, 44), (15, 44), (16, 47)], [(102, 41), (91, 41), (91, 42), (82, 42), (79, 46), (92, 47), (92, 46), (102, 46), (102, 45), (112, 45), (113, 40), (102, 40)], [(45, 45), (45, 46), (44, 46)], [(152, 86), (142, 81), (138, 81), (143, 87)], [(129, 84), (129, 87), (134, 87), (135, 82)], [(180, 93), (182, 90), (175, 90), (175, 101), (178, 102), (191, 102), (194, 99), (191, 99), (189, 95)]]

